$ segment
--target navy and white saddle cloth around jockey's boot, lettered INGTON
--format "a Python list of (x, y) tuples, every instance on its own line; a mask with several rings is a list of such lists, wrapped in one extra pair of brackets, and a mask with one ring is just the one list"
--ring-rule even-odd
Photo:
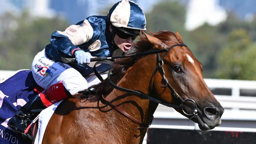
[[(39, 86), (35, 83), (30, 70), (18, 70), (13, 76), (0, 81), (0, 144), (29, 143), (7, 126), (7, 122), (20, 107), (38, 94), (33, 90), (35, 87)], [(61, 102), (55, 103), (40, 113), (34, 144), (41, 144), (47, 123), (59, 103)]]

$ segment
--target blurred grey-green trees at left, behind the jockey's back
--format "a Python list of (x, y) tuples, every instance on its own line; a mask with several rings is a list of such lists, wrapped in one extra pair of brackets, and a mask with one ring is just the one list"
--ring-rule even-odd
[(35, 18), (26, 11), (20, 15), (6, 13), (0, 21), (5, 27), (0, 32), (0, 69), (3, 70), (31, 69), (34, 56), (50, 43), (51, 33), (64, 31), (68, 26), (67, 20), (58, 16)]

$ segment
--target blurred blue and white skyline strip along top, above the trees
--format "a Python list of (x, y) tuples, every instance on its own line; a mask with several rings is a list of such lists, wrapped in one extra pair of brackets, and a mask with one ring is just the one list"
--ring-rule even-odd
[[(20, 10), (28, 9), (34, 16), (53, 17), (58, 14), (66, 17), (70, 21), (70, 24), (75, 24), (91, 15), (107, 15), (109, 8), (118, 1), (119, 0), (2, 0), (0, 4), (0, 13), (11, 11), (19, 14)], [(134, 0), (145, 13), (149, 12), (155, 4), (161, 1), (165, 0)], [(198, 19), (198, 24), (194, 24), (194, 27), (197, 27), (204, 22), (215, 25), (225, 19), (223, 11), (226, 10), (234, 11), (240, 18), (245, 19), (250, 19), (250, 17), (256, 13), (256, 9), (254, 8), (256, 4), (255, 0), (178, 1), (187, 6), (187, 23), (189, 23), (186, 24), (187, 26), (192, 26), (190, 23), (196, 21), (194, 17), (197, 17)], [(200, 16), (195, 13), (203, 8), (207, 11), (199, 11), (199, 14), (209, 13), (210, 16)], [(189, 18), (192, 20), (189, 20)]]

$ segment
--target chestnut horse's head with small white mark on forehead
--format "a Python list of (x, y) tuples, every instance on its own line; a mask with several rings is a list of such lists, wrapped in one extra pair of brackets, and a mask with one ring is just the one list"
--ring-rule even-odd
[(186, 46), (170, 49), (175, 44), (183, 44), (180, 34), (161, 31), (145, 35), (154, 49), (169, 50), (159, 55), (158, 65), (162, 68), (159, 66), (152, 78), (157, 99), (181, 105), (176, 111), (198, 123), (201, 130), (219, 126), (224, 109), (204, 82), (201, 63)]

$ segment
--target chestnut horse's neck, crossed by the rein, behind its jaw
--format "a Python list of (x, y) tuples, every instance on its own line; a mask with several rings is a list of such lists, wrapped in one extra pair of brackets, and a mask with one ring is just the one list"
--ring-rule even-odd
[[(144, 57), (127, 70), (126, 74), (117, 85), (119, 87), (137, 90), (144, 94), (152, 95), (149, 92), (150, 78), (155, 67), (156, 58)], [(158, 104), (140, 98), (139, 96), (127, 95), (126, 92), (114, 89), (107, 98), (108, 100), (114, 100), (120, 97), (120, 100), (117, 100), (116, 105), (119, 105), (120, 103), (123, 104), (119, 105), (119, 108), (126, 111), (126, 113), (129, 113), (137, 120), (149, 123)]]

